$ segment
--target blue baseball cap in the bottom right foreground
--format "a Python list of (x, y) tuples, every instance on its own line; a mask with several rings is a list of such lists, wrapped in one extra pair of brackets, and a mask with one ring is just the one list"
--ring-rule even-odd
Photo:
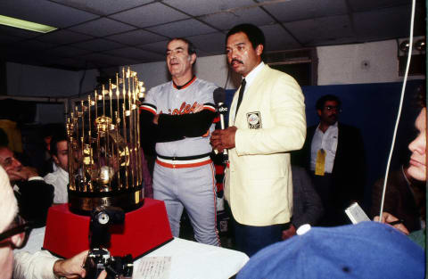
[(260, 250), (237, 279), (424, 278), (424, 250), (378, 222), (312, 227)]

